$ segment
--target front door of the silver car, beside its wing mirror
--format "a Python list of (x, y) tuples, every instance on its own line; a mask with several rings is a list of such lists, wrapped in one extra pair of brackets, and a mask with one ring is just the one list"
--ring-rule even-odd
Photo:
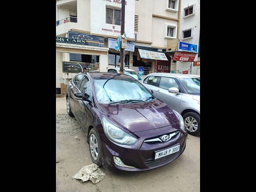
[[(168, 92), (171, 87), (176, 87), (179, 89), (179, 94), (174, 94)], [(172, 109), (179, 111), (180, 101), (182, 98), (182, 88), (178, 84), (178, 81), (172, 77), (160, 77), (158, 88), (156, 89), (156, 97), (160, 98)]]

